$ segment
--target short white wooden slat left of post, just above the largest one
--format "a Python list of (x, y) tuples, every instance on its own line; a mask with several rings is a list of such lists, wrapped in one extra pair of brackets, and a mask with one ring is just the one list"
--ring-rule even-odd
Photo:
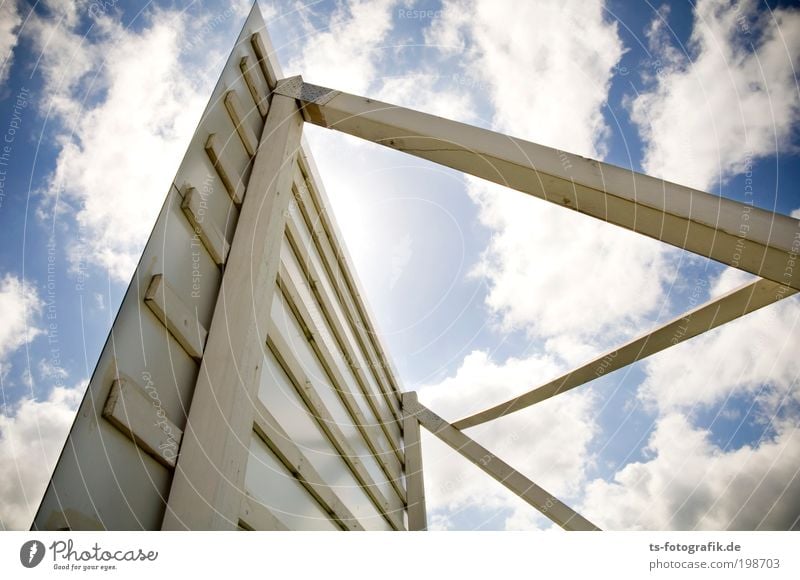
[(189, 356), (197, 361), (203, 358), (208, 331), (200, 324), (197, 314), (167, 283), (163, 274), (153, 276), (144, 295), (144, 303)]

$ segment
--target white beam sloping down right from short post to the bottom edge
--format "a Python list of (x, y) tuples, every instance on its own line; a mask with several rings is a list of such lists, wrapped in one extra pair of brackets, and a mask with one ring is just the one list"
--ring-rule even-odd
[(406, 403), (404, 405), (406, 412), (416, 417), (425, 429), (565, 530), (593, 531), (600, 529), (422, 403), (415, 402), (411, 398), (405, 399), (404, 403)]

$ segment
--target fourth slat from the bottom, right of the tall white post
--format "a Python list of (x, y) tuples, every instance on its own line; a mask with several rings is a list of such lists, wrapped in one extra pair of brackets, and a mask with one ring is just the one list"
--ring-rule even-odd
[[(278, 288), (280, 288), (289, 308), (292, 310), (300, 323), (305, 326), (306, 329), (314, 328), (314, 319), (306, 308), (306, 305), (302, 300), (300, 300), (297, 289), (295, 288), (291, 277), (285, 271), (283, 271), (283, 266), (281, 266), (281, 271), (278, 275)], [(341, 375), (341, 371), (339, 371), (339, 367), (327, 346), (322, 341), (316, 340), (313, 334), (310, 332), (307, 338), (309, 339), (317, 358), (322, 364), (322, 367), (328, 374), (328, 378), (333, 384), (336, 393), (339, 395), (339, 398), (342, 400), (345, 408), (350, 413), (353, 423), (364, 436), (364, 440), (367, 442), (367, 445), (374, 454), (375, 459), (378, 460), (378, 465), (380, 465), (383, 469), (387, 479), (397, 492), (397, 495), (400, 496), (403, 501), (405, 501), (406, 494), (405, 490), (403, 489), (402, 476), (399, 469), (399, 466), (402, 465), (402, 461), (400, 461), (397, 457), (395, 457), (395, 461), (390, 461), (387, 459), (387, 450), (380, 446), (379, 439), (373, 432), (376, 427), (371, 425), (364, 417), (364, 414), (361, 412), (361, 409), (358, 406), (358, 402), (347, 387), (347, 382)]]

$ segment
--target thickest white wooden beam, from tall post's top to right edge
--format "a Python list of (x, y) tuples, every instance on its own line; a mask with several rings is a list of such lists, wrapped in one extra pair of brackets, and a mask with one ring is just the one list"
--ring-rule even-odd
[(293, 77), (305, 119), (493, 181), (800, 290), (800, 220)]

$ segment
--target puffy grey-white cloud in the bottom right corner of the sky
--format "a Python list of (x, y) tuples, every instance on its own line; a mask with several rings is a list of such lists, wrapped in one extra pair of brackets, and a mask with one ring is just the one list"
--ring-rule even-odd
[(587, 486), (583, 514), (606, 529), (798, 528), (800, 432), (796, 422), (757, 446), (723, 451), (679, 414), (659, 419), (652, 459)]

